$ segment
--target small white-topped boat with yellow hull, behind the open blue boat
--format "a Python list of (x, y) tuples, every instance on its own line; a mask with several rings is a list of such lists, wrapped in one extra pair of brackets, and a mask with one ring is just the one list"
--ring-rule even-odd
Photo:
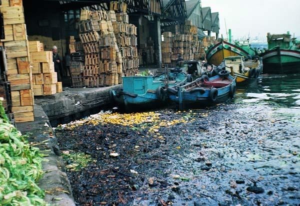
[(255, 57), (253, 60), (244, 60), (243, 56), (230, 56), (226, 57), (219, 67), (225, 67), (225, 70), (233, 72), (237, 84), (250, 83), (255, 81), (261, 74), (262, 59)]

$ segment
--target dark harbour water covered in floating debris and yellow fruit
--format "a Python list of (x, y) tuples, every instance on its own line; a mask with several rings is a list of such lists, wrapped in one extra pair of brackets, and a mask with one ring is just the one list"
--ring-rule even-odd
[(261, 75), (211, 107), (58, 126), (76, 205), (298, 205), (298, 85), (299, 75)]

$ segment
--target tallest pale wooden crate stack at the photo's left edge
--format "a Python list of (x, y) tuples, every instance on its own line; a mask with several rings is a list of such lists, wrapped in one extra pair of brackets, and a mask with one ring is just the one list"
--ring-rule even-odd
[(33, 121), (32, 74), (29, 65), (29, 45), (22, 0), (2, 0), (5, 38), (0, 39), (6, 50), (7, 81), (15, 122)]

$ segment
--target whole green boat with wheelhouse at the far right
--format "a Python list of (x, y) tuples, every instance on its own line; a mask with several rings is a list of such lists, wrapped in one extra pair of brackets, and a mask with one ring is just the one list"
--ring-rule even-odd
[(263, 72), (270, 74), (300, 73), (300, 42), (287, 34), (267, 33), (268, 49), (261, 53)]

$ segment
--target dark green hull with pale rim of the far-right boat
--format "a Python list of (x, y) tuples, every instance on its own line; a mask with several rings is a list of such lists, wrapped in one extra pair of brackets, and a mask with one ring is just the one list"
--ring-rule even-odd
[(261, 57), (263, 73), (300, 73), (300, 51), (275, 48), (262, 53)]

